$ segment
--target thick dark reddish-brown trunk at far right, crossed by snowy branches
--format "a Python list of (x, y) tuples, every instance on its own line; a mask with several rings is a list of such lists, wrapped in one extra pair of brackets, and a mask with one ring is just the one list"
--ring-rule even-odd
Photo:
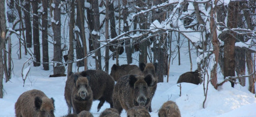
[[(228, 6), (228, 27), (237, 27), (237, 16), (239, 13), (239, 2), (230, 2)], [(236, 39), (232, 36), (235, 32), (226, 34), (227, 38), (224, 40), (224, 78), (227, 76), (235, 76), (235, 42)], [(234, 87), (234, 83), (231, 86)]]

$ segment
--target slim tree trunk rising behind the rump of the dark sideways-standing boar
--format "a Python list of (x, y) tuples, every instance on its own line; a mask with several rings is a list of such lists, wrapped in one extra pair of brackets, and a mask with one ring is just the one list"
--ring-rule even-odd
[[(109, 0), (106, 0), (105, 38), (109, 39)], [(109, 46), (106, 46), (105, 71), (109, 73)]]

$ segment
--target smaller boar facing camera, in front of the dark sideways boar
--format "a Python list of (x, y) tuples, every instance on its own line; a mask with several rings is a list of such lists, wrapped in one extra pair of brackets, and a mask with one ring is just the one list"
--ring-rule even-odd
[(66, 81), (64, 97), (68, 106), (68, 114), (71, 114), (71, 108), (73, 108), (74, 114), (79, 114), (84, 110), (89, 111), (93, 99), (88, 77), (70, 72)]

